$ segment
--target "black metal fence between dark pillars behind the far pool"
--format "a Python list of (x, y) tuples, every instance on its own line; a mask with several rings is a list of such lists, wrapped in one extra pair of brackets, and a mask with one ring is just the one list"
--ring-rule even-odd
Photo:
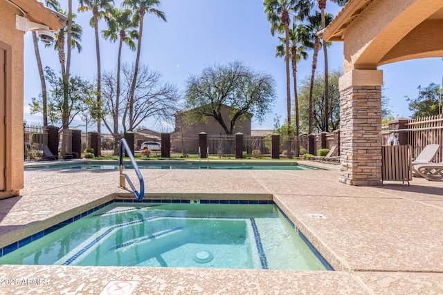
[[(55, 129), (55, 140), (58, 142), (55, 144), (57, 149), (57, 155), (62, 155), (63, 149), (63, 137), (66, 138), (66, 144), (64, 153), (71, 153), (73, 150), (71, 146), (73, 144), (73, 132), (71, 130), (66, 131), (65, 135), (63, 131), (58, 131), (57, 128), (49, 126)], [(80, 131), (78, 131), (80, 132)], [(143, 143), (159, 142), (161, 144), (161, 134), (143, 134), (143, 133), (129, 133), (129, 137), (134, 136), (134, 153), (138, 157), (154, 156), (161, 157), (161, 152), (147, 151), (142, 149)], [(117, 157), (118, 156), (118, 144), (120, 140), (124, 138), (123, 133), (111, 134), (111, 133), (88, 133), (82, 134), (81, 138), (81, 151), (91, 148), (91, 138), (97, 138), (97, 142), (94, 146), (98, 147), (100, 151), (96, 154), (102, 157)], [(52, 140), (53, 141), (53, 140)], [(48, 145), (48, 127), (24, 124), (24, 159), (26, 162), (44, 160), (44, 153), (42, 152), (42, 144)], [(209, 158), (235, 158), (235, 135), (226, 134), (208, 134), (206, 137), (206, 144)], [(307, 135), (300, 135), (299, 137), (280, 137), (279, 152), (282, 158), (293, 158), (296, 153), (305, 153), (307, 149)], [(51, 145), (51, 143), (50, 143)], [(290, 146), (289, 146), (290, 145)], [(58, 146), (58, 148), (57, 148)], [(199, 157), (199, 135), (183, 136), (177, 135), (177, 133), (170, 134), (170, 157), (171, 158), (198, 158)], [(297, 151), (298, 147), (298, 151)], [(271, 158), (271, 135), (266, 136), (253, 136), (243, 135), (243, 158)], [(206, 154), (206, 151), (204, 153)], [(291, 153), (288, 155), (288, 151)], [(55, 153), (54, 153), (55, 154)], [(78, 155), (80, 157), (80, 155)]]

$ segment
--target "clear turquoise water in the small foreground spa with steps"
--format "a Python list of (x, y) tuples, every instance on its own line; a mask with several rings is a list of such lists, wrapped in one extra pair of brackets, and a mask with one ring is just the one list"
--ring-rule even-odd
[[(325, 270), (273, 204), (113, 203), (0, 264)], [(326, 265), (325, 265), (326, 264)]]

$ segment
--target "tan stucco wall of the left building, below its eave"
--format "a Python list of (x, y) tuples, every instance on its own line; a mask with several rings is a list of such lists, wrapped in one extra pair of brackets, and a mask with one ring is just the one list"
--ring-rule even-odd
[(0, 2), (1, 46), (10, 47), (7, 52), (8, 68), (6, 74), (6, 189), (4, 192), (0, 192), (0, 198), (17, 195), (24, 185), (24, 32), (15, 29), (15, 15), (19, 13), (19, 10), (8, 2)]

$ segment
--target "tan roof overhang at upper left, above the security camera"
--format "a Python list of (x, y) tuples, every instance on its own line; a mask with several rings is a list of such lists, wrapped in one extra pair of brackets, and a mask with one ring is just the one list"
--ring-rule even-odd
[(6, 0), (14, 3), (26, 13), (29, 21), (43, 23), (50, 30), (60, 30), (66, 23), (66, 16), (59, 12), (46, 8), (43, 3), (37, 0)]

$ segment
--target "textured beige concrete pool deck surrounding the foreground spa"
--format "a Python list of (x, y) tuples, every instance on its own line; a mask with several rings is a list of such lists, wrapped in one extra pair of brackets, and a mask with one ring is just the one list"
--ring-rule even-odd
[[(1, 265), (0, 294), (100, 294), (110, 280), (138, 281), (132, 294), (443, 294), (443, 183), (351, 187), (330, 167), (142, 172), (145, 198), (273, 198), (335, 272)], [(21, 193), (0, 200), (0, 247), (126, 191), (118, 171), (40, 170)]]

